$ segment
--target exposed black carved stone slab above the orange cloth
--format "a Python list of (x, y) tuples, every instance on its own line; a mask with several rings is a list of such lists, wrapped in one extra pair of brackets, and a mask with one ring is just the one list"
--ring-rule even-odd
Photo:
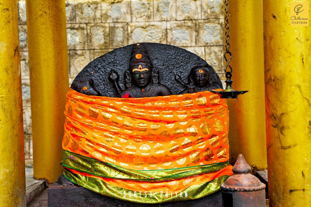
[[(137, 59), (137, 54), (142, 57)], [(200, 87), (203, 83), (197, 79), (188, 79), (188, 71), (196, 67), (208, 73), (208, 83), (204, 87)], [(178, 81), (175, 74), (179, 74)], [(71, 84), (72, 89), (86, 95), (122, 97), (129, 93), (130, 97), (137, 98), (179, 94), (183, 87), (186, 93), (222, 88), (222, 83), (215, 70), (199, 56), (180, 47), (159, 43), (139, 43), (138, 46), (136, 43), (108, 52), (86, 65)]]

